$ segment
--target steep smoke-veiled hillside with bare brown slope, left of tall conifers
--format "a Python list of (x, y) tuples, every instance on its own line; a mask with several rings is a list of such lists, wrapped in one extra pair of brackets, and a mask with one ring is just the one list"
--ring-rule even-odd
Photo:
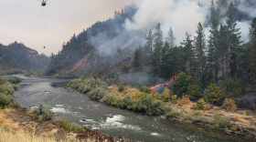
[(137, 7), (134, 3), (126, 5), (114, 17), (97, 22), (73, 35), (64, 43), (57, 56), (46, 71), (47, 76), (101, 76), (106, 79), (120, 71), (120, 66), (132, 66), (133, 51), (144, 38), (144, 32), (128, 32), (123, 27), (125, 19), (133, 20)]

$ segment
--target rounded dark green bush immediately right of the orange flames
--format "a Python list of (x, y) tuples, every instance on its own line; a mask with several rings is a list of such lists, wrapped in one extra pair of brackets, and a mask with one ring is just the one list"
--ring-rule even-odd
[(193, 82), (192, 76), (187, 75), (186, 73), (179, 73), (176, 76), (176, 80), (172, 83), (172, 86), (177, 91), (178, 94), (186, 94), (187, 88)]

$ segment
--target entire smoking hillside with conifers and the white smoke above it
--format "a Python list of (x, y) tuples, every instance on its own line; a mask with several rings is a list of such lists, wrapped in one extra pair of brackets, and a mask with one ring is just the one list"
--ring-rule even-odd
[(73, 35), (47, 74), (119, 76), (127, 84), (150, 86), (186, 72), (201, 86), (229, 77), (252, 83), (248, 34), (256, 14), (246, 9), (253, 6), (240, 0), (132, 3)]

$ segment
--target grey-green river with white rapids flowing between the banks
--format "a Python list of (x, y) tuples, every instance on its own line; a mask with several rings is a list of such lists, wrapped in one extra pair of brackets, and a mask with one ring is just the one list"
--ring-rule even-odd
[(15, 92), (21, 106), (37, 108), (47, 104), (58, 118), (87, 125), (102, 133), (145, 142), (233, 142), (251, 141), (229, 137), (223, 132), (193, 124), (162, 121), (132, 111), (105, 106), (72, 88), (64, 88), (67, 79), (22, 77)]

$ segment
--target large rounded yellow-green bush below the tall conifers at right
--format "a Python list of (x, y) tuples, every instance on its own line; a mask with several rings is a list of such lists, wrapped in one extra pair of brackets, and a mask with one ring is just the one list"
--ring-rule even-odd
[(205, 89), (204, 98), (210, 103), (218, 102), (221, 98), (223, 98), (223, 92), (216, 84), (210, 84)]

